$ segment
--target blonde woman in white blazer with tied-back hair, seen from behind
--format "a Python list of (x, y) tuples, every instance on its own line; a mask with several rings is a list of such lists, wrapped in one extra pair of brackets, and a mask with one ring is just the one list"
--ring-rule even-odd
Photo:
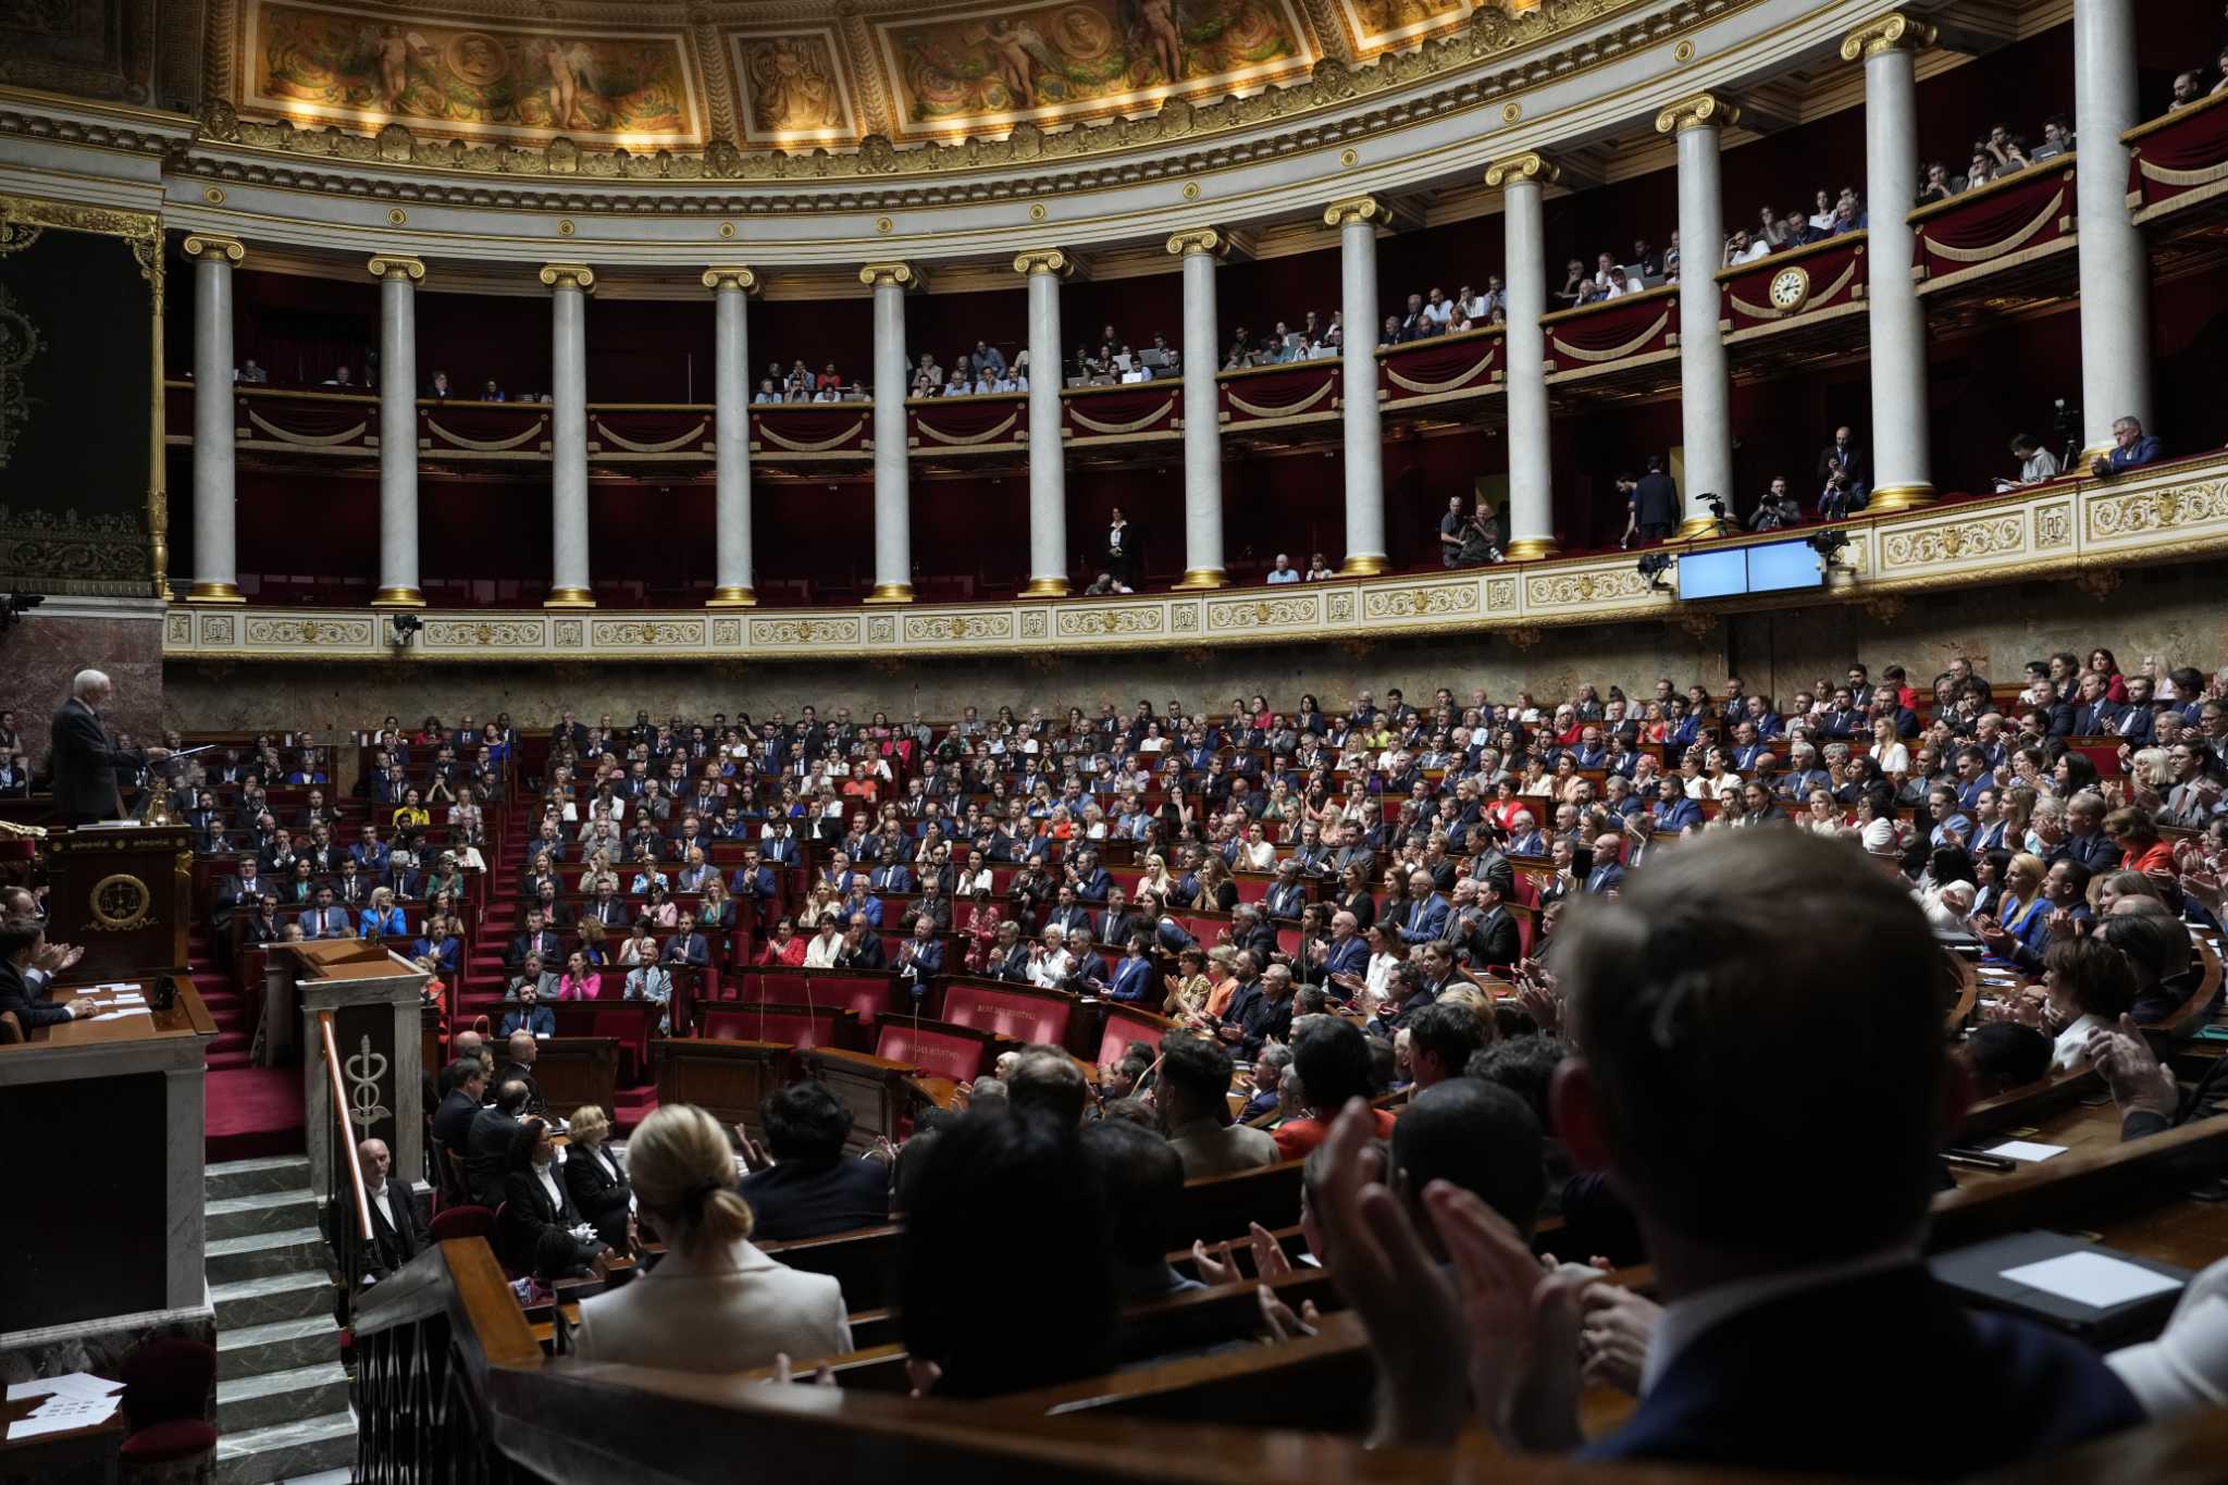
[(735, 1153), (720, 1120), (666, 1104), (626, 1142), (626, 1173), (664, 1260), (579, 1307), (575, 1349), (677, 1371), (744, 1371), (789, 1356), (804, 1365), (851, 1349), (842, 1285), (798, 1273), (751, 1245)]

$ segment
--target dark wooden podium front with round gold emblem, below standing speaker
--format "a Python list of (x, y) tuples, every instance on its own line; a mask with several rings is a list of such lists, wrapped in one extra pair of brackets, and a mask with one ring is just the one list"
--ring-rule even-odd
[(47, 837), (47, 937), (80, 944), (74, 980), (185, 973), (194, 846), (185, 826), (78, 826)]

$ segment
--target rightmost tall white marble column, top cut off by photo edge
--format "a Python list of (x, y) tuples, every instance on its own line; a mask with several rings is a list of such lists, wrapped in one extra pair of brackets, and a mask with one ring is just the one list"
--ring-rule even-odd
[[(2074, 0), (2074, 169), (2081, 254), (2081, 461), (2112, 450), (2112, 423), (2150, 425), (2150, 254), (2128, 220), (2137, 100), (2132, 0)], [(2063, 160), (2052, 163), (2052, 169)]]

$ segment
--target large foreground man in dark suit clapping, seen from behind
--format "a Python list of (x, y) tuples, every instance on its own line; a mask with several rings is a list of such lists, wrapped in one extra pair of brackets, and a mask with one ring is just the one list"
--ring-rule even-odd
[[(1655, 1262), (1664, 1311), (1640, 1405), (1582, 1443), (1577, 1347), (1535, 1338), (1577, 1325), (1584, 1280), (1542, 1280), (1482, 1202), (1435, 1193), (1421, 1227), (1377, 1204), (1357, 1102), (1326, 1142), (1310, 1211), (1386, 1376), (1435, 1378), (1459, 1358), (1462, 1376), (1504, 1378), (1475, 1400), (1502, 1447), (1776, 1476), (1818, 1469), (1823, 1438), (1836, 1472), (1954, 1478), (2143, 1420), (2092, 1349), (1965, 1309), (1918, 1256), (1967, 1080), (1941, 1040), (1941, 948), (1900, 879), (1807, 830), (1704, 835), (1591, 904), (1571, 935), (1560, 951), (1584, 966), (1584, 1053), (1555, 1075), (1553, 1129), (1631, 1202)], [(1860, 1144), (1838, 1138), (1851, 1107)], [(1816, 1160), (1829, 1142), (1836, 1158)], [(1439, 1240), (1462, 1253), (1453, 1276), (1428, 1247)], [(1462, 1316), (1482, 1305), (1528, 1309), (1537, 1329), (1473, 1329)], [(1401, 1403), (1404, 1445), (1450, 1445), (1477, 1416), (1459, 1383), (1415, 1383)], [(1900, 1427), (1867, 1427), (1876, 1418)]]

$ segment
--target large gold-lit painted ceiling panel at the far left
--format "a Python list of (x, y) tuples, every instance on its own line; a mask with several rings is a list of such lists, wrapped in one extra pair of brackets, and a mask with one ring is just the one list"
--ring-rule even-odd
[(428, 18), (390, 7), (254, 0), (241, 13), (243, 107), (421, 134), (702, 145), (680, 31)]

